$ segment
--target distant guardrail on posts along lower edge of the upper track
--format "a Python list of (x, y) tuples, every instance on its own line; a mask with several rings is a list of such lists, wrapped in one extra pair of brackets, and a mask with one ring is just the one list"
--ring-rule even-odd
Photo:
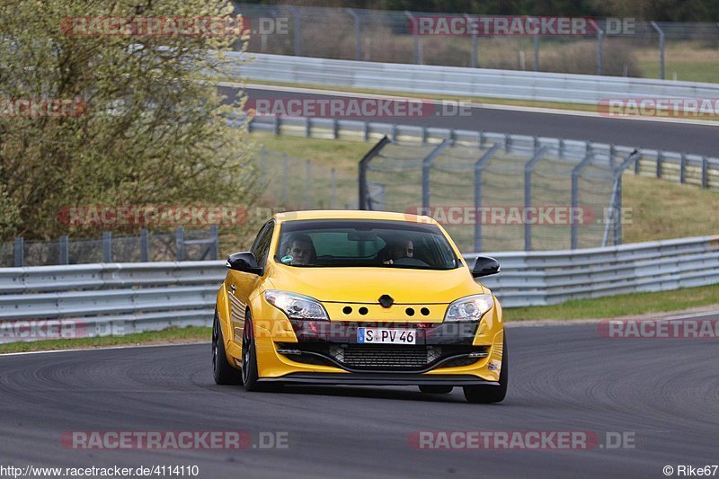
[[(617, 159), (617, 166), (620, 163), (618, 157), (626, 158), (635, 151), (632, 146), (564, 138), (529, 137), (489, 131), (439, 129), (326, 118), (258, 116), (250, 122), (249, 128), (251, 131), (266, 131), (275, 135), (358, 141), (377, 141), (386, 136), (397, 142), (441, 143), (446, 139), (452, 139), (457, 144), (469, 146), (494, 143), (505, 149), (518, 148), (527, 151), (538, 146), (546, 147), (547, 155), (558, 155), (576, 161), (581, 161), (588, 152), (613, 157)], [(641, 148), (637, 152), (637, 160), (633, 168), (635, 174), (719, 190), (719, 158), (648, 148)]]

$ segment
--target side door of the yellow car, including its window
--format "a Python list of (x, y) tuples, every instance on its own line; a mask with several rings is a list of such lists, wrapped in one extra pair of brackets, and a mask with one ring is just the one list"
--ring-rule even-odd
[[(267, 262), (268, 253), (270, 253), (270, 243), (272, 232), (274, 231), (274, 221), (268, 221), (260, 233), (255, 237), (250, 251), (254, 254), (258, 264), (264, 270)], [(243, 271), (230, 270), (227, 275), (227, 300), (230, 306), (230, 323), (235, 332), (235, 341), (242, 342), (242, 334), (244, 331), (244, 315), (247, 310), (250, 294), (257, 283), (260, 282), (261, 276)]]

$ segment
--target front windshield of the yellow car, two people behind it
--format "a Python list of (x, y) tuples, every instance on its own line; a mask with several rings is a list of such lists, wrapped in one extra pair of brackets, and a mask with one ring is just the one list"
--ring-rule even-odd
[(299, 267), (451, 270), (461, 264), (435, 225), (365, 219), (285, 222), (274, 258)]

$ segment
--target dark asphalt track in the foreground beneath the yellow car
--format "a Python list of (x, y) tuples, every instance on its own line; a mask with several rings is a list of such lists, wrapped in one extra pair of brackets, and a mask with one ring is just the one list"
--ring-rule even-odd
[[(719, 462), (717, 340), (607, 339), (593, 324), (508, 329), (510, 392), (215, 386), (208, 344), (0, 357), (0, 464), (197, 465), (200, 477), (663, 477)], [(288, 448), (74, 450), (73, 430), (288, 433)], [(635, 448), (417, 450), (420, 430), (630, 433)]]

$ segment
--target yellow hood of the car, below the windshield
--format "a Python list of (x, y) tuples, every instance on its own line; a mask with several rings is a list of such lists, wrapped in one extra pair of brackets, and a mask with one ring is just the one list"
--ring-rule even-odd
[(297, 268), (273, 264), (272, 288), (324, 302), (377, 303), (382, 295), (395, 304), (451, 303), (488, 293), (465, 268), (447, 271), (404, 268)]

